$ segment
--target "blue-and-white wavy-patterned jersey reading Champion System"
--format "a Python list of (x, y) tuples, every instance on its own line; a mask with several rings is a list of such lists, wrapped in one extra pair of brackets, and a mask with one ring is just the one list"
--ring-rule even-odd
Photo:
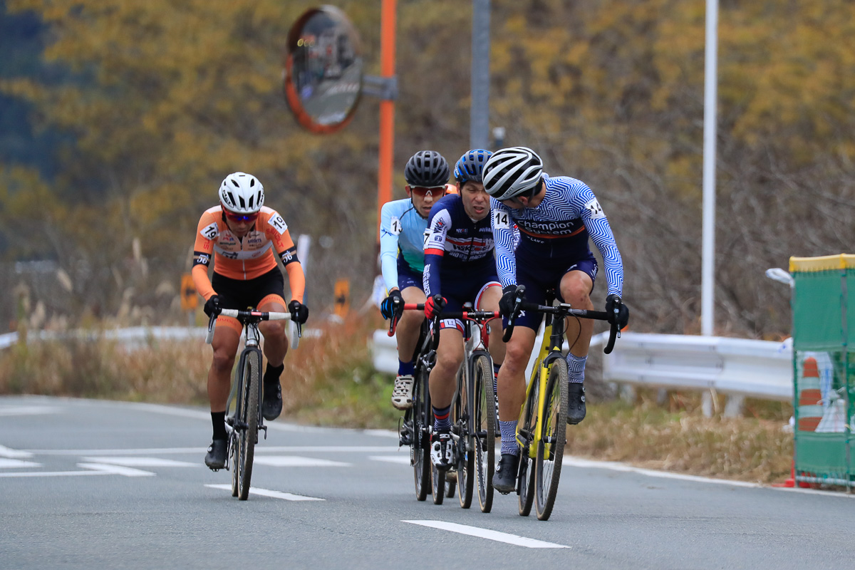
[[(492, 232), (496, 241), (496, 266), (502, 286), (516, 285), (516, 259), (555, 263), (580, 260), (591, 255), (590, 237), (603, 255), (609, 294), (622, 294), (623, 264), (593, 191), (569, 176), (550, 178), (544, 174), (546, 193), (537, 208), (511, 209), (495, 198)], [(519, 245), (514, 251), (514, 224), (519, 227)]]

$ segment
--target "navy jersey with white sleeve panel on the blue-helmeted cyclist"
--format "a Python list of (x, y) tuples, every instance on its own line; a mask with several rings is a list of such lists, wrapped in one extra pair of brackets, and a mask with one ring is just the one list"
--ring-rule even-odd
[(496, 273), (490, 216), (473, 221), (458, 194), (433, 204), (427, 235), (422, 285), (428, 297), (441, 294), (442, 281)]

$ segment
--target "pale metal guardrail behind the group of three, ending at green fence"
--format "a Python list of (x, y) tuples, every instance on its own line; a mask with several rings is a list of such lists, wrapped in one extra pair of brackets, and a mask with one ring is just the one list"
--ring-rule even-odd
[[(598, 334), (591, 344), (607, 338), (608, 332)], [(398, 372), (395, 338), (386, 331), (374, 331), (372, 353), (375, 369)], [(529, 371), (532, 365), (529, 361)], [(624, 332), (615, 350), (603, 356), (603, 379), (792, 402), (793, 349), (746, 338)]]

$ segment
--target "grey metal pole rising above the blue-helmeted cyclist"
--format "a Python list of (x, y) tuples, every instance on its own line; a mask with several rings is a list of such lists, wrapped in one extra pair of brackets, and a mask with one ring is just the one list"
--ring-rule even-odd
[(470, 81), (469, 148), (486, 149), (490, 138), (490, 0), (472, 0)]

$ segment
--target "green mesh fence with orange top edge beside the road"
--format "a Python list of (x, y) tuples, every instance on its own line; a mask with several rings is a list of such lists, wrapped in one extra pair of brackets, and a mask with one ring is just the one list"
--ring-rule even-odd
[(855, 256), (793, 257), (790, 273), (796, 480), (852, 487)]

